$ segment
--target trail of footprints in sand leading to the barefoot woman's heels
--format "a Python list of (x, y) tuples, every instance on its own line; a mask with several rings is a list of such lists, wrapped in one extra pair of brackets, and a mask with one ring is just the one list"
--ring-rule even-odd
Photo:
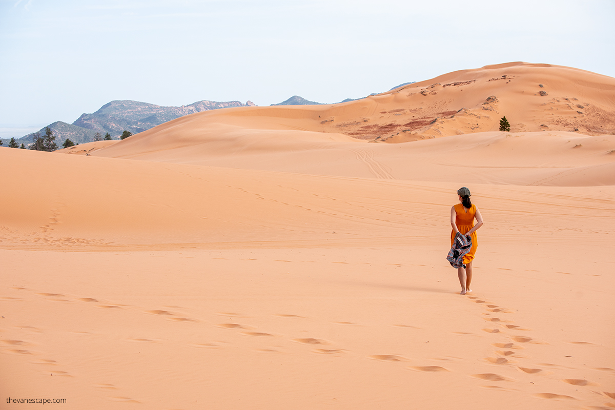
[[(474, 301), (475, 303), (482, 304), (482, 306), (485, 307), (486, 312), (483, 313), (483, 315), (485, 316), (484, 317), (485, 321), (487, 321), (488, 323), (491, 323), (492, 325), (499, 326), (499, 328), (498, 327), (485, 328), (483, 329), (483, 331), (487, 333), (492, 333), (492, 334), (497, 334), (497, 333), (504, 334), (504, 332), (506, 331), (517, 332), (517, 331), (530, 331), (531, 330), (531, 329), (523, 328), (522, 326), (519, 326), (519, 325), (515, 325), (512, 320), (501, 318), (501, 316), (506, 315), (507, 313), (512, 313), (511, 310), (504, 309), (495, 304), (491, 304), (490, 302), (487, 302), (486, 300), (480, 299), (476, 296), (468, 296), (468, 298)], [(528, 374), (528, 375), (533, 375), (533, 374), (547, 375), (547, 374), (554, 373), (546, 369), (535, 368), (531, 365), (523, 365), (522, 363), (524, 359), (530, 358), (529, 356), (524, 355), (523, 353), (520, 352), (520, 350), (525, 349), (525, 347), (523, 347), (523, 344), (548, 344), (547, 342), (538, 341), (536, 339), (533, 339), (530, 336), (526, 336), (525, 334), (523, 335), (510, 334), (510, 336), (506, 336), (506, 337), (510, 340), (510, 342), (496, 342), (496, 343), (491, 344), (493, 347), (495, 347), (498, 350), (494, 350), (494, 353), (495, 353), (494, 357), (485, 358), (486, 361), (488, 361), (489, 363), (493, 363), (495, 365), (515, 366), (515, 368), (517, 368), (518, 371), (520, 371), (523, 374)], [(586, 344), (586, 342), (573, 342), (573, 344)], [(547, 365), (547, 363), (544, 363), (543, 365), (549, 366)], [(552, 366), (555, 367), (555, 365), (552, 365)], [(605, 369), (605, 370), (611, 370), (611, 369)], [(499, 374), (494, 374), (494, 373), (475, 374), (474, 377), (477, 377), (478, 379), (488, 380), (491, 382), (513, 381), (507, 377), (501, 376)], [(574, 386), (597, 386), (598, 385), (597, 383), (590, 382), (585, 379), (562, 379), (561, 382), (574, 385)], [(500, 388), (499, 386), (483, 386), (483, 387)], [(615, 393), (595, 392), (595, 391), (593, 392), (597, 393), (598, 395), (605, 396), (607, 398), (615, 398)], [(573, 396), (558, 395), (555, 393), (537, 393), (534, 396), (537, 398), (554, 399), (554, 400), (577, 400)], [(611, 406), (609, 403), (606, 403), (605, 405), (609, 407), (615, 407), (615, 406)]]

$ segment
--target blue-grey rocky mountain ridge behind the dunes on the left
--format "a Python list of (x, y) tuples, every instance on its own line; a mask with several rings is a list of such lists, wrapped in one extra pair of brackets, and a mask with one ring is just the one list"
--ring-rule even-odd
[[(101, 137), (109, 133), (111, 138), (117, 140), (124, 130), (136, 134), (149, 130), (149, 128), (156, 127), (156, 125), (163, 124), (164, 122), (188, 114), (194, 114), (194, 112), (249, 106), (255, 106), (255, 104), (252, 101), (247, 101), (247, 103), (244, 104), (239, 101), (220, 102), (203, 100), (189, 105), (175, 107), (141, 103), (140, 101), (132, 100), (114, 100), (106, 103), (92, 114), (81, 114), (81, 117), (73, 122), (73, 124), (56, 121), (46, 127), (42, 127), (39, 133), (44, 135), (45, 128), (51, 128), (55, 135), (56, 144), (60, 147), (66, 138), (69, 138), (76, 144), (93, 141), (97, 132), (100, 133)], [(28, 144), (32, 143), (33, 136), (34, 133), (31, 133), (22, 138), (18, 138), (17, 143), (23, 143), (25, 146), (28, 146)]]

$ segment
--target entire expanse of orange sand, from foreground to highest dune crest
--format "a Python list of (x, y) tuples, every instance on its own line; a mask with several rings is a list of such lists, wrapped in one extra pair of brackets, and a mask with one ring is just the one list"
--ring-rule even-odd
[[(533, 81), (549, 95), (522, 92)], [(613, 128), (570, 132), (547, 124), (563, 108), (540, 105), (565, 96), (612, 112), (609, 84), (510, 63), (336, 106), (226, 109), (123, 141), (0, 149), (0, 170), (19, 175), (0, 196), (0, 400), (615, 407)], [(362, 123), (336, 126), (408, 122), (419, 97), (424, 110), (446, 97), (438, 109), (468, 111), (390, 144), (352, 138)], [(457, 135), (474, 109), (490, 119)], [(488, 128), (501, 114), (513, 132)], [(461, 185), (486, 221), (467, 296), (445, 260)]]

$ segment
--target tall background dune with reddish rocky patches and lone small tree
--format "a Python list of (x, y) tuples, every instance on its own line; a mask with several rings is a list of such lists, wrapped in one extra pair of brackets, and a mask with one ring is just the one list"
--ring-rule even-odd
[[(199, 112), (159, 127), (232, 124), (257, 130), (341, 133), (414, 141), (499, 130), (615, 133), (615, 79), (576, 68), (508, 63), (456, 71), (379, 95), (324, 106), (244, 107)], [(156, 128), (141, 133), (151, 135)], [(127, 141), (123, 141), (127, 143)]]

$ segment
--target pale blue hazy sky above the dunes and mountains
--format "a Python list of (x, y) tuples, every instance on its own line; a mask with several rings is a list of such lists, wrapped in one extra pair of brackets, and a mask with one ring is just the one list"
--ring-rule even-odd
[(333, 103), (508, 61), (615, 77), (615, 1), (0, 0), (0, 126), (111, 100)]

